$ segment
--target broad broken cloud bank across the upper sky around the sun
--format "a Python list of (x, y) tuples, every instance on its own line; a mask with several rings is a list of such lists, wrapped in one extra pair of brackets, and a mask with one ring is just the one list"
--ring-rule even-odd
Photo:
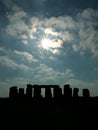
[(77, 14), (76, 19), (71, 16), (43, 19), (33, 16), (28, 19), (29, 24), (26, 24), (24, 18), (27, 18), (27, 14), (16, 5), (12, 10), (13, 13), (7, 14), (9, 25), (6, 32), (11, 36), (19, 37), (23, 44), (28, 44), (29, 39), (36, 40), (34, 42), (40, 41), (45, 35), (53, 41), (52, 50), (50, 49), (53, 54), (57, 54), (54, 50), (62, 47), (63, 44), (71, 43), (73, 51), (83, 55), (89, 50), (93, 57), (98, 57), (98, 11), (85, 9)]

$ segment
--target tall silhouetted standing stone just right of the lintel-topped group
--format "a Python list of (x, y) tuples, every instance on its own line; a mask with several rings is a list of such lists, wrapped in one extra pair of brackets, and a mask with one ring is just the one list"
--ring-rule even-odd
[(69, 84), (64, 85), (64, 97), (71, 98), (72, 97), (72, 88), (70, 88)]

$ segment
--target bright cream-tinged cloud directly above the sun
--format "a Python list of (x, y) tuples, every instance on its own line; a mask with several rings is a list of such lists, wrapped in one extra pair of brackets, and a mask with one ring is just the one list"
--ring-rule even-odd
[[(30, 20), (32, 28), (44, 30), (46, 34), (51, 34), (54, 36), (62, 37), (61, 34), (68, 36), (70, 34), (66, 29), (75, 28), (75, 21), (70, 16), (59, 16), (59, 17), (50, 17), (40, 19), (38, 17), (32, 17)], [(57, 31), (59, 30), (59, 31)], [(67, 31), (67, 32), (66, 32)], [(35, 33), (35, 29), (32, 30), (32, 33)], [(70, 35), (69, 35), (70, 36)], [(69, 39), (68, 39), (69, 40)]]

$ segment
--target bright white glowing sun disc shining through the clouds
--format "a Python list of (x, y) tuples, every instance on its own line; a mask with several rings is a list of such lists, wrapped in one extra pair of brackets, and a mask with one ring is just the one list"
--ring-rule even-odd
[(49, 39), (49, 38), (43, 38), (41, 40), (41, 46), (42, 46), (43, 49), (48, 50), (48, 49), (52, 48), (53, 41), (51, 39)]

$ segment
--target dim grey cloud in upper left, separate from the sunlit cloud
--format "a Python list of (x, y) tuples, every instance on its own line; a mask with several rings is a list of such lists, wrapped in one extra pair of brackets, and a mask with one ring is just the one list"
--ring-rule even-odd
[(25, 32), (29, 30), (24, 20), (25, 17), (26, 13), (20, 9), (15, 12), (8, 13), (7, 18), (9, 20), (9, 25), (6, 27), (6, 33), (13, 37), (19, 37), (20, 35), (25, 34)]

